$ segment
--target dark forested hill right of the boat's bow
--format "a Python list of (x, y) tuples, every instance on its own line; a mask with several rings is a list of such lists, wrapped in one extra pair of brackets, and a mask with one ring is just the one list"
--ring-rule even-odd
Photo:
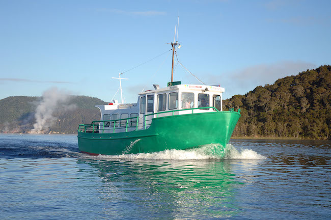
[(224, 100), (241, 108), (234, 136), (331, 140), (331, 66), (321, 66)]

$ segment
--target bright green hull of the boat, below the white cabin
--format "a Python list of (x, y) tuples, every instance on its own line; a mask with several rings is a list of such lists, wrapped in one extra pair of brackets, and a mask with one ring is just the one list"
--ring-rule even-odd
[(91, 155), (120, 155), (205, 144), (225, 147), (239, 118), (237, 112), (197, 113), (154, 118), (146, 130), (103, 134), (78, 131), (78, 148)]

